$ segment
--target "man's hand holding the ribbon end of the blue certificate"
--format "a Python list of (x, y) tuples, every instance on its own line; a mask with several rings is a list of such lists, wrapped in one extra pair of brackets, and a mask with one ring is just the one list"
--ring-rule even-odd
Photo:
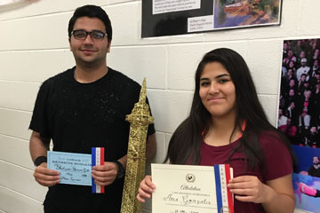
[(116, 162), (104, 162), (104, 165), (94, 166), (92, 168), (94, 183), (98, 185), (112, 184), (116, 179), (117, 170)]

